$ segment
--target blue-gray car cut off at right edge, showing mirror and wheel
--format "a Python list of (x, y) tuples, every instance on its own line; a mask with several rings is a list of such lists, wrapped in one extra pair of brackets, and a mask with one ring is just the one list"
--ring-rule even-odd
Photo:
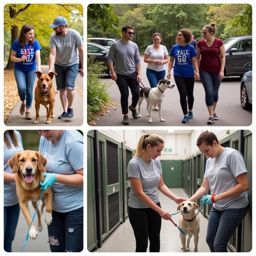
[(244, 73), (241, 81), (240, 101), (243, 109), (250, 109), (252, 104), (252, 62), (244, 66), (250, 70)]

